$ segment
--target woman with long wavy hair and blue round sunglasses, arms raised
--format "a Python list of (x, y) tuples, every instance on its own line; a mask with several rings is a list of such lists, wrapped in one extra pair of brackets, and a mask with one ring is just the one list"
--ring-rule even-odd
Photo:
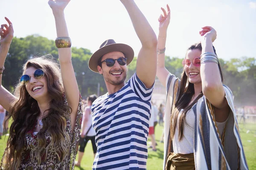
[(13, 26), (0, 28), (0, 105), (13, 122), (0, 169), (73, 169), (81, 129), (82, 103), (71, 62), (64, 18), (70, 0), (49, 0), (55, 17), (59, 63), (52, 57), (29, 59), (12, 95), (1, 84)]

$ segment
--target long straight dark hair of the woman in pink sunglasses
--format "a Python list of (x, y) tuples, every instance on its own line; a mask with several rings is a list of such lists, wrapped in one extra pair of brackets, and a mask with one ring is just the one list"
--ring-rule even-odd
[[(213, 47), (214, 53), (216, 54), (216, 50)], [(198, 49), (200, 51), (202, 51), (202, 45), (201, 43), (196, 43), (194, 45), (191, 45), (187, 51), (186, 54), (189, 50), (195, 50)], [(217, 55), (217, 54), (216, 54)], [(221, 81), (223, 82), (223, 76), (222, 76), (222, 71), (221, 71), (221, 66), (220, 63), (218, 63), (218, 68), (220, 71), (220, 76), (221, 76)], [(185, 69), (183, 68), (183, 72), (181, 74), (181, 80), (180, 80), (180, 91), (178, 92), (178, 96), (175, 102), (175, 107), (172, 108), (172, 114), (171, 114), (171, 139), (173, 139), (174, 134), (175, 134), (175, 128), (177, 125), (177, 119), (178, 119), (178, 114), (180, 112), (181, 109), (184, 109), (181, 113), (181, 116), (179, 117), (178, 120), (178, 132), (179, 132), (179, 137), (178, 140), (180, 141), (183, 138), (183, 134), (184, 134), (184, 123), (186, 123), (186, 113), (187, 111), (189, 111), (193, 105), (195, 105), (195, 103), (198, 101), (198, 99), (200, 99), (203, 96), (203, 92), (201, 91), (201, 93), (196, 97), (196, 99), (189, 105), (189, 102), (192, 99), (192, 96), (195, 94), (195, 89), (194, 89), (194, 84), (189, 82), (188, 77), (185, 73)], [(176, 95), (176, 94), (174, 94)]]

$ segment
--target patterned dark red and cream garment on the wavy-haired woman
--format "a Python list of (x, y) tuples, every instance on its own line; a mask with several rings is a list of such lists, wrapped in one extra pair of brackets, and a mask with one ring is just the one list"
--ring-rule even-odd
[[(64, 104), (67, 104), (67, 98), (64, 95)], [(47, 150), (47, 157), (46, 161), (41, 161), (41, 164), (38, 165), (37, 160), (35, 159), (35, 153), (31, 153), (32, 148), (35, 148), (38, 145), (37, 141), (37, 135), (34, 135), (34, 130), (37, 125), (37, 120), (34, 122), (33, 129), (31, 129), (28, 133), (26, 133), (26, 145), (23, 147), (23, 151), (21, 153), (21, 163), (19, 166), (19, 170), (73, 170), (75, 159), (76, 159), (76, 153), (78, 150), (79, 145), (79, 134), (81, 129), (81, 121), (82, 121), (82, 111), (83, 111), (83, 105), (82, 105), (82, 99), (80, 96), (79, 99), (79, 107), (77, 110), (77, 116), (76, 116), (76, 124), (74, 127), (73, 133), (71, 133), (71, 118), (70, 115), (66, 117), (67, 121), (67, 127), (66, 132), (70, 136), (70, 142), (67, 146), (69, 149), (69, 155), (66, 155), (64, 158), (64, 161), (59, 161), (58, 156), (54, 152), (54, 147), (49, 146), (49, 149)], [(46, 145), (48, 145), (51, 142), (51, 137), (49, 135), (48, 130), (45, 133), (46, 137)], [(65, 137), (66, 142), (68, 139)], [(5, 153), (7, 152), (7, 149), (5, 150)], [(5, 154), (4, 153), (4, 154)], [(32, 159), (31, 154), (33, 154), (34, 159)], [(41, 159), (44, 159), (46, 154), (42, 155)], [(4, 157), (3, 157), (4, 158)], [(0, 164), (0, 169), (4, 169), (5, 160), (2, 159), (2, 162)]]

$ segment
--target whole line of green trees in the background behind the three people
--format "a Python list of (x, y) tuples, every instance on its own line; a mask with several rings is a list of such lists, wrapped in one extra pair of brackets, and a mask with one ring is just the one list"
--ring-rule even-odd
[[(22, 66), (27, 59), (34, 56), (51, 54), (58, 59), (58, 49), (54, 40), (48, 40), (39, 35), (30, 35), (25, 38), (14, 37), (9, 53), (6, 57), (3, 72), (3, 86), (12, 91), (22, 75)], [(86, 48), (72, 47), (72, 63), (76, 73), (76, 80), (83, 97), (107, 92), (102, 75), (94, 73), (88, 68), (88, 61), (92, 53)], [(182, 60), (178, 57), (165, 59), (165, 66), (169, 72), (180, 77), (183, 71)], [(224, 75), (224, 84), (235, 96), (236, 105), (255, 105), (256, 100), (256, 60), (255, 57), (241, 57), (224, 61), (219, 59)], [(128, 65), (126, 81), (136, 72), (137, 57)]]

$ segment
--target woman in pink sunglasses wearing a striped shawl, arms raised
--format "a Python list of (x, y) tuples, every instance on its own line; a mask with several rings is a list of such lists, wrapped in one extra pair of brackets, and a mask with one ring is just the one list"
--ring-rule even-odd
[(181, 79), (165, 68), (168, 13), (159, 18), (157, 77), (166, 87), (164, 168), (248, 169), (234, 111), (232, 92), (212, 42), (216, 31), (205, 26), (202, 40), (183, 59)]

